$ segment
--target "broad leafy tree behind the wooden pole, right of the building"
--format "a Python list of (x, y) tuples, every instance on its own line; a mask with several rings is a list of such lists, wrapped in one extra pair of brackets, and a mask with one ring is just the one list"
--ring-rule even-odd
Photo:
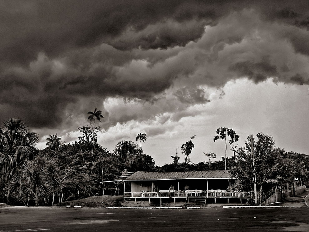
[[(230, 172), (235, 178), (234, 187), (243, 191), (253, 191), (253, 157), (251, 153), (251, 138), (245, 141), (245, 146), (240, 147), (236, 154), (235, 165)], [(270, 135), (257, 134), (253, 138), (253, 156), (256, 171), (258, 204), (267, 197), (273, 189), (287, 183), (292, 184), (297, 176), (307, 173), (304, 163), (298, 166), (293, 155), (274, 146), (275, 141)], [(304, 157), (302, 157), (304, 158)], [(307, 166), (308, 167), (308, 166)]]

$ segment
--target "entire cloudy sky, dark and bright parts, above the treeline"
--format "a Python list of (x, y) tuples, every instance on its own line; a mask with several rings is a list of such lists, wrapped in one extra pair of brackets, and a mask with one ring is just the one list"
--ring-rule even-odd
[(219, 126), (309, 154), (307, 0), (1, 1), (0, 18), (0, 121), (24, 119), (40, 149), (98, 108), (99, 144), (146, 133), (157, 165), (193, 135), (193, 163), (224, 156)]

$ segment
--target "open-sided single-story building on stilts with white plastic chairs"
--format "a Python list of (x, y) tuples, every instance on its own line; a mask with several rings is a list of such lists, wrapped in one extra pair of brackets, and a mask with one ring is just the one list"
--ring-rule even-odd
[[(123, 176), (125, 177), (125, 176)], [(209, 170), (209, 171), (186, 171), (186, 172), (146, 172), (137, 171), (121, 181), (124, 186), (130, 184), (130, 191), (125, 191), (125, 200), (151, 200), (173, 198), (189, 201), (188, 198), (199, 198), (201, 201), (213, 199), (230, 199), (250, 198), (249, 193), (235, 191), (230, 188), (232, 177), (228, 171)], [(102, 181), (105, 183), (107, 181)], [(128, 188), (127, 188), (128, 189)]]

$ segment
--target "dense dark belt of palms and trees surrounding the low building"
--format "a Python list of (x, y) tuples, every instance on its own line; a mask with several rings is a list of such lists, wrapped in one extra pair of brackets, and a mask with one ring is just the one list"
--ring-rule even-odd
[[(99, 112), (96, 111), (95, 112)], [(171, 163), (155, 165), (155, 160), (141, 150), (145, 134), (138, 134), (140, 146), (133, 141), (119, 141), (113, 152), (108, 151), (96, 141), (95, 126), (81, 126), (80, 141), (63, 144), (61, 138), (50, 135), (47, 148), (35, 148), (38, 135), (28, 130), (21, 119), (9, 119), (0, 128), (0, 202), (25, 205), (52, 205), (64, 200), (76, 200), (103, 193), (100, 181), (118, 178), (124, 170), (128, 171), (195, 171), (229, 170), (235, 178), (231, 186), (236, 190), (253, 192), (253, 178), (256, 174), (259, 204), (274, 191), (292, 184), (295, 178), (308, 183), (309, 157), (296, 152), (285, 152), (274, 146), (272, 136), (257, 134), (236, 151), (235, 157), (217, 157), (212, 152), (204, 152), (209, 161), (193, 164), (190, 162), (195, 136), (182, 145), (185, 162), (179, 163), (179, 156), (171, 155)], [(226, 130), (225, 130), (226, 129)], [(98, 129), (97, 129), (98, 130)], [(228, 128), (219, 127), (217, 139), (231, 136), (229, 143), (238, 140), (238, 135)], [(145, 136), (145, 137), (144, 137)], [(89, 141), (92, 137), (92, 146)], [(214, 138), (214, 139), (215, 139)], [(235, 145), (236, 148), (236, 145)], [(236, 149), (235, 149), (236, 150)], [(253, 172), (253, 158), (255, 172)], [(123, 192), (120, 185), (105, 183), (105, 195)]]

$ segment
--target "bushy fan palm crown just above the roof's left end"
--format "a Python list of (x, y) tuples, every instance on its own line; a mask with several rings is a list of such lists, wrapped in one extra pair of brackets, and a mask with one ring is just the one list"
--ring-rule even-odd
[(144, 160), (138, 148), (138, 144), (133, 141), (119, 141), (114, 148), (114, 152), (118, 155), (118, 161), (123, 162), (128, 168), (133, 165), (139, 165)]

